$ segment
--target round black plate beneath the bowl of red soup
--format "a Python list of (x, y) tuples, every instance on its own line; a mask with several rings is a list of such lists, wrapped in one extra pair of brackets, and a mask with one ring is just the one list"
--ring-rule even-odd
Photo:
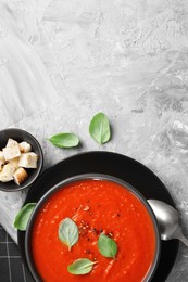
[[(125, 155), (111, 152), (87, 152), (68, 157), (47, 169), (29, 190), (26, 203), (38, 202), (58, 182), (82, 174), (105, 174), (117, 177), (134, 185), (146, 198), (156, 198), (174, 205), (161, 180), (146, 166)], [(23, 260), (25, 258), (25, 232), (17, 233)], [(174, 266), (178, 252), (178, 241), (163, 241), (159, 267), (152, 282), (163, 282)]]

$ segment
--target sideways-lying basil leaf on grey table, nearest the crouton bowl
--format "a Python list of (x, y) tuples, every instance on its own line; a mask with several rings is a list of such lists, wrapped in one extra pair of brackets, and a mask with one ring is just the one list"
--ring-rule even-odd
[(73, 148), (79, 144), (79, 139), (74, 133), (58, 133), (48, 139), (53, 145), (59, 148)]

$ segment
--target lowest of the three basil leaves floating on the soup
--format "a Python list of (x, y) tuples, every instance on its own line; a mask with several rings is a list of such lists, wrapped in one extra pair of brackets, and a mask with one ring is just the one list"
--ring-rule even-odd
[(67, 267), (67, 271), (75, 275), (87, 274), (92, 270), (95, 264), (97, 261), (91, 261), (88, 258), (78, 258)]

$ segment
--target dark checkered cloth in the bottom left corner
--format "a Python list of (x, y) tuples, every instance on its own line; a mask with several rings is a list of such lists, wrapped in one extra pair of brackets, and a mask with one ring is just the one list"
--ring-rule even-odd
[(17, 245), (0, 226), (0, 281), (33, 282), (25, 269)]

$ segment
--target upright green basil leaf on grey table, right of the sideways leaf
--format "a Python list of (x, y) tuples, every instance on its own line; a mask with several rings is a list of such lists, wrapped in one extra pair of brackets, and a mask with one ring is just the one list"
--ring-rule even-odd
[(100, 144), (109, 141), (111, 137), (110, 124), (103, 113), (96, 114), (89, 125), (90, 136)]

